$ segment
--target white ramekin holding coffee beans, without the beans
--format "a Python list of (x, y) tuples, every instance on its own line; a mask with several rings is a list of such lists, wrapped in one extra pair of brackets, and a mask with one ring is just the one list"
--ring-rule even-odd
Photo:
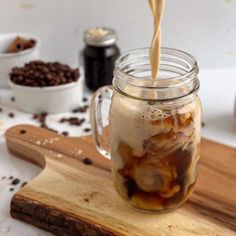
[(81, 76), (76, 82), (50, 87), (22, 86), (11, 81), (10, 86), (18, 107), (29, 113), (67, 112), (78, 107), (83, 97)]

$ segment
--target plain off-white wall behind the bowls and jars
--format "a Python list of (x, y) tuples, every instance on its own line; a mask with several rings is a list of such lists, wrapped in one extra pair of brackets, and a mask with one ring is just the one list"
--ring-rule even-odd
[[(148, 0), (0, 0), (0, 33), (31, 32), (45, 59), (75, 63), (83, 31), (117, 30), (122, 51), (148, 46)], [(187, 50), (201, 68), (236, 68), (236, 0), (166, 0), (163, 45)]]

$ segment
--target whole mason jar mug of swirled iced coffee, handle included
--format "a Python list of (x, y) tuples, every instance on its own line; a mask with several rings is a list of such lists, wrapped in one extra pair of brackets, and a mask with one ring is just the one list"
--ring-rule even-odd
[[(201, 132), (198, 90), (194, 57), (162, 48), (158, 80), (151, 76), (149, 49), (137, 49), (118, 59), (113, 88), (95, 94), (91, 121), (98, 150), (111, 157), (114, 187), (133, 207), (169, 211), (191, 195)], [(111, 94), (108, 128), (101, 104)]]

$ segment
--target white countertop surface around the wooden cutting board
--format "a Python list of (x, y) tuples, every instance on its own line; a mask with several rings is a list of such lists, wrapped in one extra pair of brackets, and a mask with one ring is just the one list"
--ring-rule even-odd
[[(234, 117), (234, 101), (236, 96), (236, 70), (208, 69), (200, 73), (200, 96), (203, 103), (204, 123), (202, 136), (236, 147), (236, 118)], [(11, 101), (12, 94), (0, 89), (0, 235), (4, 236), (47, 236), (51, 235), (33, 226), (14, 220), (9, 215), (10, 199), (21, 187), (24, 181), (30, 181), (40, 169), (30, 163), (11, 156), (6, 149), (4, 132), (15, 124), (36, 124), (32, 115), (17, 110)], [(85, 102), (83, 104), (86, 104)], [(78, 105), (83, 105), (78, 104)], [(14, 118), (8, 114), (13, 112)], [(56, 130), (68, 131), (70, 135), (82, 135), (84, 128), (89, 127), (88, 114), (73, 114), (79, 118), (85, 117), (86, 122), (81, 127), (69, 127), (60, 124), (61, 117), (71, 116), (71, 113), (50, 115), (47, 124)], [(11, 185), (9, 177), (19, 178), (20, 183)], [(2, 179), (6, 177), (5, 179)], [(10, 191), (14, 188), (13, 191)]]

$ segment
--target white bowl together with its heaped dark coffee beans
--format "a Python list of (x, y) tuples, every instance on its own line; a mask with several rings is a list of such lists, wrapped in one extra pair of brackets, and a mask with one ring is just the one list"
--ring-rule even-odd
[(32, 61), (12, 69), (10, 86), (22, 111), (61, 113), (78, 107), (82, 101), (80, 77), (78, 68), (59, 62)]

